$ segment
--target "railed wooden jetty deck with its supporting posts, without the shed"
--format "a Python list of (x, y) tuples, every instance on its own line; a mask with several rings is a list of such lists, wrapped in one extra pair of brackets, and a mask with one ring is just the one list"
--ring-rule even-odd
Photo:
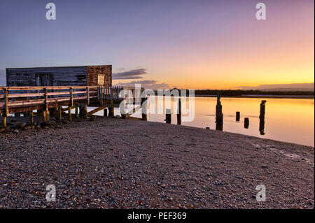
[[(123, 89), (130, 90), (132, 98), (122, 95)], [(49, 119), (50, 108), (59, 110), (61, 118), (60, 114), (65, 110), (62, 106), (68, 106), (69, 111), (76, 108), (76, 115), (78, 115), (78, 107), (84, 108), (86, 117), (109, 108), (110, 115), (113, 116), (113, 108), (118, 107), (121, 101), (124, 99), (135, 101), (135, 92), (134, 87), (122, 86), (0, 87), (0, 115), (3, 117), (4, 127), (6, 127), (6, 117), (10, 113), (29, 112), (32, 116), (33, 110), (40, 110), (43, 120), (46, 121), (47, 118)], [(87, 113), (87, 106), (98, 108)], [(69, 120), (71, 120), (71, 112)]]

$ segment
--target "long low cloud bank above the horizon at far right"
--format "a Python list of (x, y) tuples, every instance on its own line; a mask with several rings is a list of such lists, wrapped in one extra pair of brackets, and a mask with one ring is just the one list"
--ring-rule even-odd
[(253, 90), (276, 90), (276, 91), (314, 91), (314, 82), (300, 83), (300, 84), (276, 84), (276, 85), (258, 85), (251, 86), (238, 86), (236, 89), (253, 89)]

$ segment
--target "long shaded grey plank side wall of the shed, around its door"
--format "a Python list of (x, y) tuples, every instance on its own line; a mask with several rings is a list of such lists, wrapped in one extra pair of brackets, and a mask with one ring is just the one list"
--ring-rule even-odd
[(52, 86), (87, 85), (86, 66), (60, 66), (6, 69), (6, 85), (38, 86), (37, 75), (52, 74)]

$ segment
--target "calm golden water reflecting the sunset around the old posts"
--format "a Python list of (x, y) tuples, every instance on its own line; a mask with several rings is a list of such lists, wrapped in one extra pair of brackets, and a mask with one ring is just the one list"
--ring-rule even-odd
[[(156, 97), (155, 99), (157, 99), (155, 100), (156, 103), (158, 101), (165, 103), (163, 97)], [(173, 99), (170, 100), (173, 110)], [(262, 100), (264, 99), (222, 98), (223, 131), (314, 146), (314, 99), (265, 99), (267, 100), (265, 135), (261, 135), (259, 131), (259, 112)], [(236, 111), (241, 113), (240, 122), (235, 121)], [(103, 115), (103, 112), (96, 114)], [(116, 108), (115, 115), (118, 114), (119, 110)], [(182, 124), (190, 127), (215, 129), (215, 114), (216, 98), (198, 96), (195, 97), (195, 119), (192, 122), (182, 122)], [(141, 114), (132, 116), (141, 117)], [(244, 129), (244, 117), (249, 117), (248, 129)], [(148, 121), (165, 122), (164, 120), (164, 114), (148, 114)], [(172, 114), (172, 124), (176, 124), (176, 122), (176, 114)]]

